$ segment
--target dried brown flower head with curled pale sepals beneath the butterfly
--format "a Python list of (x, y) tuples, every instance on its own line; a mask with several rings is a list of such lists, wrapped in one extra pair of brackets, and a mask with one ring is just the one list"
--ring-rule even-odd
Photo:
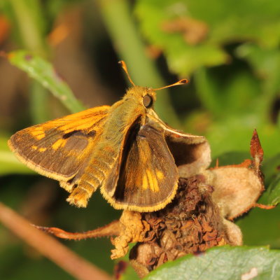
[[(207, 142), (187, 150), (188, 158), (193, 160), (187, 164), (181, 160), (184, 164), (177, 165), (181, 176), (179, 189), (165, 209), (151, 213), (123, 211), (118, 221), (83, 233), (41, 229), (64, 239), (112, 236), (113, 259), (126, 255), (129, 244), (137, 242), (130, 251), (130, 262), (140, 277), (167, 260), (188, 253), (225, 244), (241, 245), (241, 230), (232, 220), (252, 207), (265, 208), (256, 203), (264, 189), (260, 171), (263, 152), (257, 132), (253, 132), (251, 139), (252, 160), (239, 165), (207, 169)], [(176, 161), (180, 162), (178, 155)]]

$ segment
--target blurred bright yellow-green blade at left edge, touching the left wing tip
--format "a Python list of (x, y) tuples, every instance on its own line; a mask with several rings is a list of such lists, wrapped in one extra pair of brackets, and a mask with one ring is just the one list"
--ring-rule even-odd
[(21, 162), (8, 148), (8, 138), (0, 137), (0, 175), (18, 173), (18, 174), (34, 174), (34, 172), (22, 165)]

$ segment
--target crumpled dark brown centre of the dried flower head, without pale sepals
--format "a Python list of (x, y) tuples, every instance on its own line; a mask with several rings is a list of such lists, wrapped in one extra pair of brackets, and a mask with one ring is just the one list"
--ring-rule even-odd
[(207, 185), (205, 176), (197, 175), (180, 179), (179, 191), (165, 209), (137, 216), (124, 211), (120, 219), (123, 221), (124, 236), (113, 241), (116, 248), (121, 249), (114, 250), (112, 257), (124, 253), (123, 248), (128, 245), (123, 243), (124, 240), (137, 240), (137, 237), (131, 236), (130, 230), (137, 228), (137, 225), (144, 231), (140, 235), (141, 230), (136, 231), (137, 236), (141, 237), (130, 252), (130, 260), (139, 276), (186, 253), (199, 253), (223, 244), (236, 245), (234, 239), (228, 237), (230, 226), (224, 224), (221, 212), (211, 198), (213, 191), (214, 188)]

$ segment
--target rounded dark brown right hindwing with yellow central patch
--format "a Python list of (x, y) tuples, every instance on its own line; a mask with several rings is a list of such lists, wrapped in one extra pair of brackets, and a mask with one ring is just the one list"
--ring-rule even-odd
[(174, 197), (179, 174), (165, 142), (164, 131), (155, 122), (132, 127), (120, 163), (120, 176), (102, 186), (102, 194), (117, 209), (156, 211)]

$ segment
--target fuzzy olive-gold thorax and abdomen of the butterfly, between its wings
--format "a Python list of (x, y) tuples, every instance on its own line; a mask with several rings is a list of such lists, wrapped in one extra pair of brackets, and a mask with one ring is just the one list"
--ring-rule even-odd
[(145, 124), (147, 110), (144, 104), (141, 104), (141, 98), (130, 94), (129, 90), (122, 100), (111, 106), (103, 133), (81, 180), (96, 183), (94, 188), (102, 186), (107, 174), (114, 165), (118, 165), (116, 159), (130, 132), (134, 127)]

